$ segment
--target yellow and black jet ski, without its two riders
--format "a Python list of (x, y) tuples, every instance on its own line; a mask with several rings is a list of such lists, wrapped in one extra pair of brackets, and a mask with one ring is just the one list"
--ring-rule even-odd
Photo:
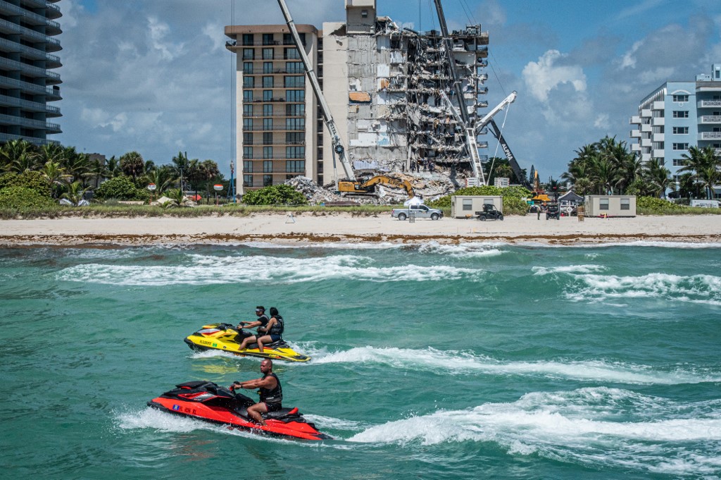
[(291, 349), (283, 339), (274, 341), (272, 344), (263, 345), (260, 352), (258, 344), (249, 344), (247, 349), (240, 349), (240, 344), (252, 333), (245, 330), (237, 330), (230, 323), (211, 323), (204, 325), (197, 332), (185, 337), (185, 343), (197, 352), (205, 350), (221, 350), (231, 354), (245, 357), (261, 357), (272, 360), (286, 360), (288, 362), (307, 362), (311, 357), (299, 354)]

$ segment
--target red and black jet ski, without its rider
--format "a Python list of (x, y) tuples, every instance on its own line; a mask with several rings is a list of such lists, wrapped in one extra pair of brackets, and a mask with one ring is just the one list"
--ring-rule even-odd
[(203, 380), (175, 386), (177, 388), (153, 398), (148, 406), (249, 432), (303, 440), (331, 440), (331, 437), (319, 432), (314, 424), (307, 422), (298, 409), (280, 409), (263, 414), (267, 423), (264, 426), (250, 419), (247, 408), (256, 402), (242, 393), (236, 394), (228, 388)]

